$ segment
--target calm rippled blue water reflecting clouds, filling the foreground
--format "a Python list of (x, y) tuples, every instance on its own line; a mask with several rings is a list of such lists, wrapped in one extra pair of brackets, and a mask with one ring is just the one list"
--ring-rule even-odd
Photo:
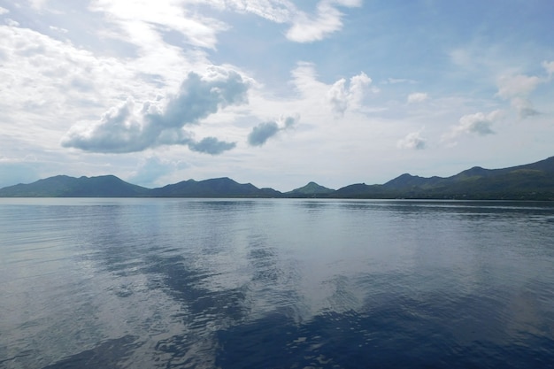
[(0, 367), (551, 368), (554, 204), (0, 199)]

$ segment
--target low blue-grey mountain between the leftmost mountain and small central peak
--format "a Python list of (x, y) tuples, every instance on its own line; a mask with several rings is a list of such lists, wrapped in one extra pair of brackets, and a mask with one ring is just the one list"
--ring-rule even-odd
[(281, 192), (273, 188), (257, 188), (240, 184), (230, 178), (215, 178), (205, 181), (181, 181), (162, 188), (150, 190), (153, 197), (280, 197)]

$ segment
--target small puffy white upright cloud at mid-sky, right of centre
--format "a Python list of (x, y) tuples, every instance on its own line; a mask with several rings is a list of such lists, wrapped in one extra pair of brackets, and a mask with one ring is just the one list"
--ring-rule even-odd
[[(366, 87), (372, 83), (372, 79), (365, 73), (359, 73), (350, 78), (347, 86), (345, 79), (336, 81), (327, 90), (327, 102), (335, 112), (335, 116), (342, 117), (349, 108), (358, 108), (362, 102)], [(376, 89), (373, 89), (376, 92)]]

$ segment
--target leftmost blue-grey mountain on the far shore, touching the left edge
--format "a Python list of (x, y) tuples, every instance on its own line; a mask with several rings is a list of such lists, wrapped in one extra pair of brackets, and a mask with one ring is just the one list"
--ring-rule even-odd
[(149, 191), (114, 175), (81, 178), (57, 175), (30, 184), (0, 188), (0, 197), (135, 197)]

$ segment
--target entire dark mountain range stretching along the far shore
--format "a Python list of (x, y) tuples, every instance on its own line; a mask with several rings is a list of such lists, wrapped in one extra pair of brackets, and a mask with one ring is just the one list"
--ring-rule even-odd
[(144, 188), (114, 175), (74, 178), (57, 175), (29, 184), (0, 188), (0, 197), (293, 197), (378, 199), (467, 199), (554, 201), (554, 157), (503, 169), (475, 166), (450, 177), (404, 173), (384, 184), (352, 184), (339, 189), (309, 182), (280, 192), (229, 178), (181, 181)]

